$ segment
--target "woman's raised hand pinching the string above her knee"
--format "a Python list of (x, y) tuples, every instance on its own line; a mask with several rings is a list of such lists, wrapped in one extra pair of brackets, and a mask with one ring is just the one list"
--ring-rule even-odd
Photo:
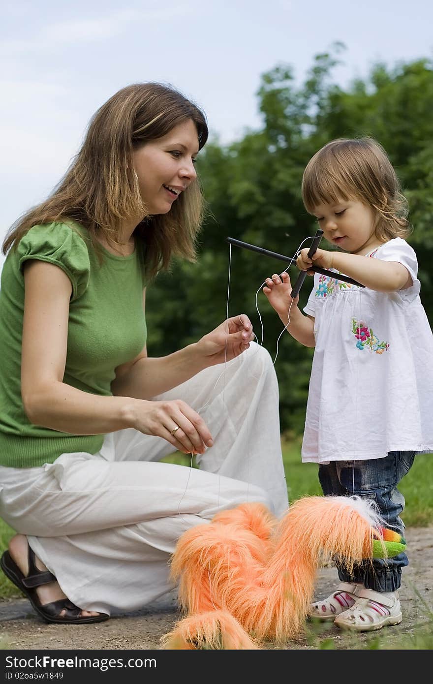
[(206, 357), (208, 366), (230, 361), (248, 349), (254, 339), (252, 324), (245, 313), (228, 318), (196, 343), (196, 352)]

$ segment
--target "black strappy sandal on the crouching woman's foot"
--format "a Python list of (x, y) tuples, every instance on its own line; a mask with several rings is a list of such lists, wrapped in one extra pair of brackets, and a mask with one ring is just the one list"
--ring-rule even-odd
[[(19, 590), (27, 596), (31, 605), (34, 607), (38, 615), (45, 620), (45, 622), (55, 622), (57, 624), (85, 624), (89, 622), (103, 622), (108, 620), (109, 615), (100, 613), (97, 616), (89, 616), (88, 618), (80, 617), (81, 608), (69, 601), (69, 599), (59, 599), (51, 603), (41, 605), (36, 588), (42, 584), (49, 584), (50, 582), (57, 582), (57, 579), (50, 573), (49, 570), (38, 570), (35, 563), (34, 551), (29, 546), (29, 571), (27, 577), (23, 575), (20, 568), (12, 560), (9, 551), (5, 551), (0, 558), (0, 566), (6, 577), (14, 583)], [(60, 615), (62, 610), (64, 615)]]

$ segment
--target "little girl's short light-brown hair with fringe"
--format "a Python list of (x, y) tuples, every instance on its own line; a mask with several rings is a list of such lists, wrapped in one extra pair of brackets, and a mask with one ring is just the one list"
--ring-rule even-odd
[(315, 153), (302, 176), (302, 200), (313, 213), (321, 202), (356, 198), (376, 214), (376, 237), (407, 237), (408, 205), (384, 148), (371, 137), (341, 138)]

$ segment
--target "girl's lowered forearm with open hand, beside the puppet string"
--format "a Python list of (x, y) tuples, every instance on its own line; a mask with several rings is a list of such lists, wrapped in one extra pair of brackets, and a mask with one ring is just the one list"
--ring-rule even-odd
[[(272, 308), (278, 313), (291, 337), (294, 337), (304, 347), (315, 347), (314, 318), (306, 316), (300, 311), (298, 307), (299, 297), (292, 300), (290, 297), (291, 289), (289, 274), (284, 272), (280, 276), (274, 274), (272, 278), (266, 278), (263, 293), (265, 293)], [(288, 321), (289, 324), (287, 325)]]

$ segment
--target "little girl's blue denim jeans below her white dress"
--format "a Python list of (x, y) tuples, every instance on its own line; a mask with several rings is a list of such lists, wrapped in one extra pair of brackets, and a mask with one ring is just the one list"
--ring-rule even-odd
[[(366, 461), (331, 461), (319, 465), (319, 482), (325, 496), (357, 495), (373, 499), (385, 521), (385, 527), (404, 536), (404, 523), (399, 514), (404, 509), (404, 496), (397, 485), (410, 471), (416, 451), (390, 451), (385, 458)], [(353, 575), (337, 565), (343, 582), (359, 582), (376, 592), (393, 592), (402, 583), (402, 568), (409, 563), (406, 553), (394, 558), (374, 558), (357, 564)]]

